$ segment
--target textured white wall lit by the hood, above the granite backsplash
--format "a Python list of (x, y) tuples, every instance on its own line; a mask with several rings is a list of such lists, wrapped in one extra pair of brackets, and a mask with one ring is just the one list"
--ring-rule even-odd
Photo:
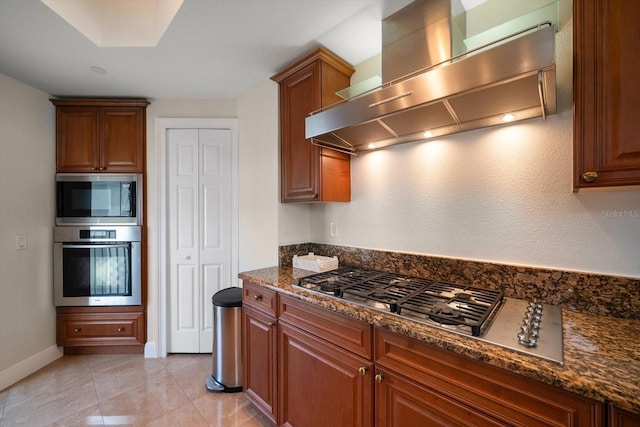
[(313, 206), (311, 241), (640, 277), (640, 190), (572, 192), (571, 2), (560, 5), (557, 115), (354, 158), (352, 202)]

